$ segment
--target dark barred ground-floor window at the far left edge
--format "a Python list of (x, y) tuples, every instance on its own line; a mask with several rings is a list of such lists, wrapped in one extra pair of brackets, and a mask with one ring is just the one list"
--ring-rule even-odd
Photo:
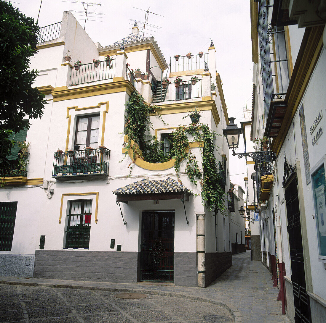
[(0, 202), (0, 250), (11, 251), (18, 202)]

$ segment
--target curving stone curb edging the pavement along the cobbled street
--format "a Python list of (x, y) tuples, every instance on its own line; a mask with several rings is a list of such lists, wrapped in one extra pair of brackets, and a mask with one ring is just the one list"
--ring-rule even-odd
[(107, 291), (116, 291), (123, 293), (143, 293), (148, 295), (159, 295), (159, 296), (170, 296), (170, 297), (179, 297), (186, 300), (207, 302), (215, 305), (219, 305), (227, 309), (235, 322), (243, 322), (242, 313), (231, 303), (221, 303), (205, 297), (196, 297), (193, 295), (185, 295), (180, 292), (169, 292), (169, 291), (159, 291), (159, 290), (148, 290), (148, 289), (127, 289), (127, 288), (110, 288), (110, 287), (97, 287), (97, 286), (77, 286), (69, 284), (51, 284), (51, 283), (33, 283), (33, 282), (23, 282), (23, 281), (6, 281), (0, 280), (0, 284), (4, 285), (20, 285), (20, 286), (41, 286), (41, 287), (50, 287), (50, 288), (71, 288), (71, 289), (90, 289), (90, 290), (107, 290)]

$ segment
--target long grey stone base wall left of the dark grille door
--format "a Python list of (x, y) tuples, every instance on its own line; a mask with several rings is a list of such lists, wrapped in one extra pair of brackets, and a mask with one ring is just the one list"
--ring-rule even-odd
[(34, 277), (137, 282), (138, 252), (36, 250)]

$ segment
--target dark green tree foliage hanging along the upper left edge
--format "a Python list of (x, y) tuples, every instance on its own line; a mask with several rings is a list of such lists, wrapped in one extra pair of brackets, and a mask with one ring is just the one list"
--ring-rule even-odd
[(23, 119), (41, 117), (44, 95), (33, 83), (36, 70), (29, 69), (36, 52), (39, 28), (10, 3), (0, 0), (0, 173), (8, 169), (6, 155), (14, 142), (11, 131), (29, 128)]

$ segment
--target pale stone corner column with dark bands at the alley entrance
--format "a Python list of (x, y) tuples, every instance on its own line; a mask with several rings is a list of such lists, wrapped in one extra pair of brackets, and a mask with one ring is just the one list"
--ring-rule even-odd
[(205, 213), (197, 213), (197, 265), (198, 287), (206, 287), (205, 284)]

